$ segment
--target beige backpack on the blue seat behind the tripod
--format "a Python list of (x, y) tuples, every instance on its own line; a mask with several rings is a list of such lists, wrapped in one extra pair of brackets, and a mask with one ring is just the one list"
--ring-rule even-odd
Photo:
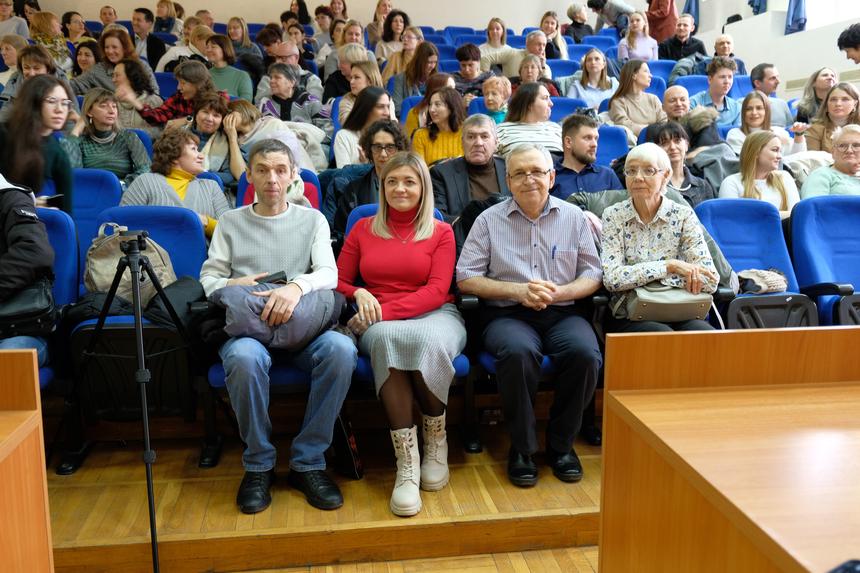
[[(113, 233), (105, 235), (105, 229), (111, 227)], [(113, 282), (113, 277), (116, 275), (116, 265), (120, 257), (123, 256), (119, 248), (120, 232), (127, 231), (128, 227), (123, 227), (116, 223), (102, 223), (99, 227), (98, 236), (93, 239), (93, 244), (87, 250), (87, 267), (84, 272), (84, 286), (90, 292), (106, 292), (110, 289)], [(173, 272), (173, 264), (170, 262), (170, 255), (167, 254), (161, 245), (152, 239), (146, 240), (147, 249), (142, 255), (146, 255), (149, 259), (149, 264), (152, 265), (153, 273), (162, 287), (176, 282), (176, 274)], [(143, 269), (141, 269), (143, 271)], [(145, 272), (140, 274), (140, 304), (146, 306), (149, 299), (155, 296), (155, 285), (149, 280)], [(116, 295), (128, 301), (131, 301), (131, 271), (125, 270), (122, 279), (119, 281)]]

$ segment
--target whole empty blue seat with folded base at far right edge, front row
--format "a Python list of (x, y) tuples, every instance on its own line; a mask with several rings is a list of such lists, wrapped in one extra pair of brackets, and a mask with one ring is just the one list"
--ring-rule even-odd
[(794, 268), (801, 289), (817, 297), (821, 324), (860, 324), (858, 221), (853, 196), (810, 197), (791, 213)]

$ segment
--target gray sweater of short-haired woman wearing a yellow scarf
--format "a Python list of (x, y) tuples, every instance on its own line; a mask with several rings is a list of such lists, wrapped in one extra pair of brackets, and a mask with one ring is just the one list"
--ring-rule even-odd
[(188, 184), (185, 200), (160, 173), (144, 173), (132, 181), (122, 195), (120, 205), (163, 205), (185, 207), (212, 219), (219, 219), (230, 210), (230, 204), (218, 184), (209, 179), (195, 179)]

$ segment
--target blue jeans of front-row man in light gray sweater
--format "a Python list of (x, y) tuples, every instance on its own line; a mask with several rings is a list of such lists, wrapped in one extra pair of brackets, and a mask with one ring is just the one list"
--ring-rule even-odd
[[(242, 465), (261, 472), (275, 467), (269, 419), (269, 350), (253, 338), (231, 338), (219, 351), (227, 374), (227, 392), (245, 442)], [(334, 423), (349, 390), (358, 351), (346, 336), (333, 330), (316, 337), (292, 364), (311, 376), (305, 418), (293, 439), (290, 468), (299, 472), (325, 469)]]

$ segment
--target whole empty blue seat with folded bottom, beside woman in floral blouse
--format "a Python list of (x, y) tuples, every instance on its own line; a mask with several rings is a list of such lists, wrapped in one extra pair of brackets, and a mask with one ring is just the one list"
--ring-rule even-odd
[(785, 275), (785, 293), (741, 294), (725, 309), (727, 328), (817, 326), (815, 304), (802, 294), (788, 256), (776, 207), (756, 199), (711, 199), (696, 215), (735, 272), (777, 269)]

